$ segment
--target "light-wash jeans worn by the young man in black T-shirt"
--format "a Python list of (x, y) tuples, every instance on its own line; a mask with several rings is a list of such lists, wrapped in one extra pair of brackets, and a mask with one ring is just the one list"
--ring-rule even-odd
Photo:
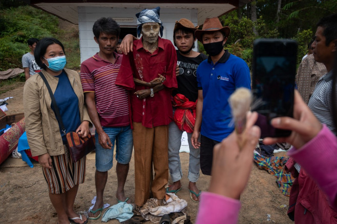
[[(178, 128), (174, 121), (168, 125), (168, 169), (170, 169), (173, 182), (182, 178), (179, 156), (182, 133), (183, 131)], [(187, 133), (189, 146), (188, 179), (191, 182), (197, 182), (200, 175), (200, 148), (195, 149), (192, 146), (191, 137), (192, 133)]]

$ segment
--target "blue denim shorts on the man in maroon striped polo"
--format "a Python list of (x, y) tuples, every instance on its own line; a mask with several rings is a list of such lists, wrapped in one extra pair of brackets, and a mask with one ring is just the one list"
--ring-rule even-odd
[(116, 160), (120, 164), (129, 164), (132, 156), (133, 138), (130, 125), (124, 127), (102, 127), (107, 133), (112, 143), (112, 149), (104, 149), (98, 142), (98, 134), (95, 133), (96, 139), (96, 170), (106, 172), (112, 168), (114, 157), (114, 144), (116, 140)]

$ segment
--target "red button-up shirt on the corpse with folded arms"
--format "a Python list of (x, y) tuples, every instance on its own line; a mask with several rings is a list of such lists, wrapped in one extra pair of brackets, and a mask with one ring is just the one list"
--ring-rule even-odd
[[(130, 57), (123, 57), (116, 85), (131, 91), (132, 120), (146, 128), (170, 124), (173, 120), (171, 91), (178, 87), (175, 72), (177, 54), (173, 44), (158, 37), (158, 49), (151, 54), (143, 48), (141, 38), (134, 41), (133, 52), (130, 53), (133, 54), (134, 63), (130, 63)], [(136, 91), (149, 87), (135, 85), (133, 78), (151, 82), (159, 77), (158, 74), (166, 78), (164, 89), (156, 92), (154, 97), (137, 98), (134, 94)]]

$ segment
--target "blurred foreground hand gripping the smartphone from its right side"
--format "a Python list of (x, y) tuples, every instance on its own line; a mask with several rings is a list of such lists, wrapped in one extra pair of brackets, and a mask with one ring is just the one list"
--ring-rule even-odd
[(299, 92), (294, 93), (293, 118), (277, 117), (271, 120), (271, 125), (279, 129), (291, 130), (288, 137), (271, 138), (266, 137), (263, 143), (270, 145), (276, 142), (288, 142), (299, 149), (315, 137), (322, 129), (322, 124), (313, 115), (308, 106), (304, 103)]

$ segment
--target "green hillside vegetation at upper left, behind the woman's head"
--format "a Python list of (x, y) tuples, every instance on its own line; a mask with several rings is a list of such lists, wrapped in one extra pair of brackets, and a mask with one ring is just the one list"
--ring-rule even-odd
[(0, 68), (22, 67), (22, 55), (29, 52), (27, 40), (54, 36), (58, 19), (30, 6), (0, 10)]

